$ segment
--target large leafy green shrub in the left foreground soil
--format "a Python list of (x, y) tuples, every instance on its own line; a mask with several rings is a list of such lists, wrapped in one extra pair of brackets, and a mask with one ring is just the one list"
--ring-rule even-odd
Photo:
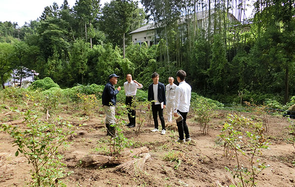
[(14, 146), (18, 146), (15, 156), (22, 153), (33, 166), (30, 171), (33, 183), (30, 186), (65, 186), (59, 180), (65, 176), (64, 164), (59, 161), (62, 158), (59, 147), (69, 143), (67, 138), (73, 133), (72, 125), (62, 119), (55, 123), (40, 120), (37, 113), (30, 109), (29, 100), (32, 98), (28, 98), (26, 112), (14, 110), (24, 117), (26, 128), (2, 124), (2, 129), (13, 138)]

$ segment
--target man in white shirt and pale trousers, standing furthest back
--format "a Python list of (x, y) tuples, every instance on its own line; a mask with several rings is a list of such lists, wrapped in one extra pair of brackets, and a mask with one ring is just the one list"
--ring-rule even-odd
[(169, 84), (166, 85), (166, 99), (167, 99), (167, 113), (168, 113), (168, 122), (172, 121), (172, 114), (174, 110), (175, 105), (175, 90), (177, 88), (177, 85), (174, 84), (174, 78), (169, 77), (168, 78)]

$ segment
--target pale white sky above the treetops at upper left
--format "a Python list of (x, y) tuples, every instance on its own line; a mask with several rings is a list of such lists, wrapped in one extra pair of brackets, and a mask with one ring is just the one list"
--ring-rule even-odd
[[(67, 0), (70, 8), (75, 5), (76, 0)], [(100, 0), (100, 4), (111, 0)], [(63, 0), (0, 0), (0, 22), (17, 22), (23, 26), (25, 22), (36, 20), (42, 15), (44, 8), (50, 6), (53, 2), (62, 5)]]

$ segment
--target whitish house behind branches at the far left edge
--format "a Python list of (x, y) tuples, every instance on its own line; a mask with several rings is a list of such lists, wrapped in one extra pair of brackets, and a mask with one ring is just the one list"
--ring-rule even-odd
[(34, 78), (38, 75), (39, 73), (35, 70), (29, 70), (26, 67), (21, 67), (20, 69), (12, 71), (11, 77), (6, 83), (4, 83), (4, 86), (28, 88), (29, 85), (34, 82)]

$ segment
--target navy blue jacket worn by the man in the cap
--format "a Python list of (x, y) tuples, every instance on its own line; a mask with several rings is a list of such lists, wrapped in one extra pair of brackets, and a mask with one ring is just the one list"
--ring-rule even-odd
[(111, 83), (108, 82), (103, 89), (102, 93), (102, 104), (106, 106), (116, 106), (117, 103), (117, 94), (119, 91), (116, 89), (115, 86)]

